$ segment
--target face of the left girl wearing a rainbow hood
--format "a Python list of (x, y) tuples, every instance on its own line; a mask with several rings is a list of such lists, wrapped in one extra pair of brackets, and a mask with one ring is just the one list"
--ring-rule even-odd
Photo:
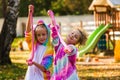
[(41, 25), (37, 26), (35, 30), (35, 37), (40, 44), (43, 44), (48, 37), (47, 29), (45, 27), (41, 27)]

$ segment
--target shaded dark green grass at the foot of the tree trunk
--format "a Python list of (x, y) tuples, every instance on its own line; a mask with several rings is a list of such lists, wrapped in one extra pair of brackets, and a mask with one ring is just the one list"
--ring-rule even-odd
[(0, 65), (0, 80), (24, 80), (27, 65), (12, 63), (11, 65)]

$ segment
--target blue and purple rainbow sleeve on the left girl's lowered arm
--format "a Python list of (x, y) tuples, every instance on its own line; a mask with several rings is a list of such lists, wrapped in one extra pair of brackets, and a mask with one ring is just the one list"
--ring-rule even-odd
[(45, 69), (48, 70), (52, 66), (52, 62), (53, 62), (53, 56), (47, 56), (43, 58), (41, 65), (43, 65)]

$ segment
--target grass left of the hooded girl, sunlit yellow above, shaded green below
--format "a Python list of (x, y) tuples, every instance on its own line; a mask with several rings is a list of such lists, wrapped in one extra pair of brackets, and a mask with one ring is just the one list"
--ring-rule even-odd
[(11, 51), (12, 64), (0, 65), (0, 80), (24, 80), (29, 51)]

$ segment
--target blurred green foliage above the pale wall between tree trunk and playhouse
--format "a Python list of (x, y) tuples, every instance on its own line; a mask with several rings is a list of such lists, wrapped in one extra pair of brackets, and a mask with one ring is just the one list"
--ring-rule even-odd
[(81, 15), (90, 14), (88, 7), (92, 0), (20, 0), (19, 16), (28, 14), (28, 5), (34, 5), (34, 16), (47, 16), (52, 9), (55, 15)]

